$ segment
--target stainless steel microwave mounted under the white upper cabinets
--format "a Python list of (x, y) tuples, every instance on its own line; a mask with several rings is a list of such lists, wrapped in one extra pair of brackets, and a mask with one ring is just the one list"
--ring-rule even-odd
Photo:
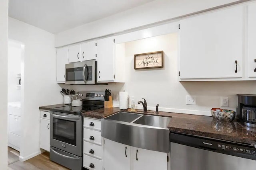
[(97, 61), (88, 60), (66, 64), (65, 84), (96, 84)]

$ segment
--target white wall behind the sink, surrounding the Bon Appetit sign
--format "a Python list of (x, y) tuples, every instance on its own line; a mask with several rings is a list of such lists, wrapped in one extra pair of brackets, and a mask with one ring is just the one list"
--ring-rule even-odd
[[(164, 51), (164, 68), (134, 70), (134, 54)], [(112, 90), (114, 99), (119, 91), (127, 91), (137, 102), (146, 98), (148, 109), (159, 104), (160, 111), (210, 115), (212, 107), (220, 107), (220, 97), (228, 96), (230, 107), (236, 111), (236, 94), (256, 94), (256, 81), (234, 82), (179, 82), (178, 34), (172, 33), (125, 43), (125, 84), (114, 83), (99, 86), (72, 85), (76, 91)], [(186, 96), (196, 96), (197, 105), (186, 105)], [(114, 101), (115, 106), (118, 102)], [(223, 107), (225, 108), (225, 107)]]

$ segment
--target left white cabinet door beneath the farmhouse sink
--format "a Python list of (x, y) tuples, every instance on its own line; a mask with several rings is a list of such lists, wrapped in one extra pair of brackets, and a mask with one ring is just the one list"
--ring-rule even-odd
[(104, 169), (130, 170), (130, 146), (104, 139)]

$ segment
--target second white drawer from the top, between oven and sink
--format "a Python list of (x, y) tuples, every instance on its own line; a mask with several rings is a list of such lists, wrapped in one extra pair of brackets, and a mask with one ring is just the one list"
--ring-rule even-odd
[(102, 137), (100, 136), (100, 132), (91, 129), (84, 128), (84, 141), (102, 145)]

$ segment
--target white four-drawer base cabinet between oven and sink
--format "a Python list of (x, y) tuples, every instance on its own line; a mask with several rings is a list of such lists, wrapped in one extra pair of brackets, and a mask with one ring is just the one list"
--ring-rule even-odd
[(84, 117), (83, 166), (89, 170), (102, 170), (102, 137), (100, 120)]

